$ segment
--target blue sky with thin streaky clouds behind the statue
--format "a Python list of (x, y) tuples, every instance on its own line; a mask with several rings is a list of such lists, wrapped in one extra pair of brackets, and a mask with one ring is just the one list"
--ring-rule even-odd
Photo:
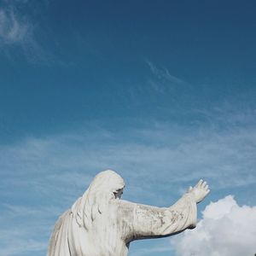
[[(126, 200), (168, 206), (202, 177), (200, 212), (227, 195), (254, 209), (255, 9), (1, 1), (0, 254), (45, 255), (56, 218), (108, 168)], [(179, 252), (166, 238), (130, 255)]]

